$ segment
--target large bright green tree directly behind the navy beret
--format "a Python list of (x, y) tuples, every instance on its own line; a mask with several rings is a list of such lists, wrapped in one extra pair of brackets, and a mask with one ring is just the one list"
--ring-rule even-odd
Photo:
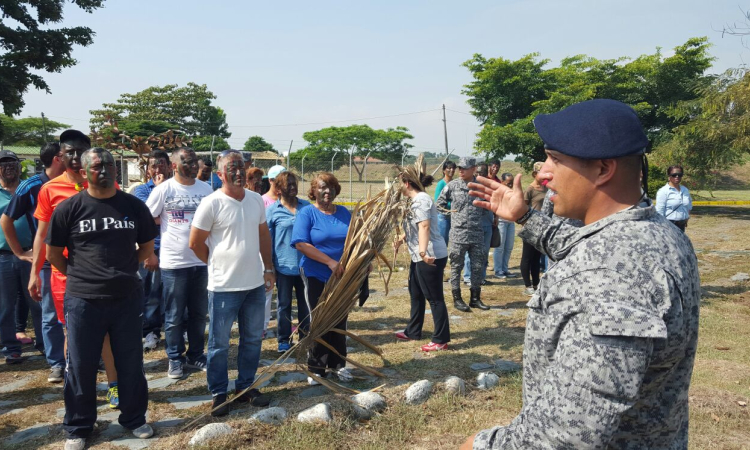
[(483, 125), (476, 153), (500, 159), (514, 154), (516, 161), (530, 168), (545, 157), (534, 117), (595, 98), (631, 105), (651, 142), (659, 144), (685, 121), (671, 114), (671, 108), (695, 99), (695, 88), (710, 81), (704, 75), (713, 61), (708, 48), (707, 38), (692, 38), (666, 58), (660, 49), (635, 59), (577, 55), (549, 69), (545, 68), (549, 61), (536, 53), (516, 61), (475, 54), (464, 62), (474, 81), (462, 92)]

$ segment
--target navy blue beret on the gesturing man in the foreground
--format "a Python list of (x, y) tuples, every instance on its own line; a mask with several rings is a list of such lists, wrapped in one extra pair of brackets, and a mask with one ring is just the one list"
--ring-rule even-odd
[(616, 100), (588, 100), (539, 114), (534, 126), (546, 148), (580, 159), (640, 155), (648, 146), (633, 108)]

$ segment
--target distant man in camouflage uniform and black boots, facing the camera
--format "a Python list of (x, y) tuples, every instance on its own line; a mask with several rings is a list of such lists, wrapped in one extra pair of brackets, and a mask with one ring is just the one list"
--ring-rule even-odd
[[(482, 274), (487, 267), (487, 252), (484, 250), (482, 221), (487, 211), (475, 206), (469, 196), (469, 182), (474, 181), (476, 159), (462, 157), (458, 160), (459, 177), (448, 183), (438, 197), (437, 206), (446, 211), (451, 204), (451, 231), (448, 235), (451, 261), (451, 291), (453, 306), (459, 311), (469, 312), (471, 308), (490, 309), (479, 298), (482, 290)], [(461, 269), (464, 258), (469, 253), (471, 259), (471, 299), (467, 306), (461, 298)]]

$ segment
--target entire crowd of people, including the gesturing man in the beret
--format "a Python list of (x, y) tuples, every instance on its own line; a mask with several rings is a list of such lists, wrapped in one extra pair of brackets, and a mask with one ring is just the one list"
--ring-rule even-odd
[[(592, 131), (593, 122), (605, 131)], [(499, 161), (446, 162), (434, 198), (426, 192), (432, 176), (400, 169), (409, 208), (394, 246), (410, 257), (411, 313), (396, 338), (422, 339), (429, 303), (434, 331), (421, 349), (447, 350), (446, 266), (454, 307), (489, 309), (481, 298), (488, 255), (494, 247), (496, 279), (514, 277), (508, 264), (522, 225), (520, 271), (531, 296), (524, 405), (509, 425), (479, 432), (464, 448), (684, 448), (700, 288), (684, 234), (692, 200), (683, 169), (669, 168), (656, 207), (644, 203), (648, 141), (619, 102), (583, 102), (540, 115), (535, 126), (547, 160), (534, 164), (526, 190), (520, 175), (499, 174)], [(21, 183), (18, 157), (0, 152), (0, 340), (6, 363), (22, 363), (19, 322), (25, 327), (22, 316), (31, 314), (48, 381), (65, 381), (66, 450), (84, 448), (94, 429), (99, 370), (120, 424), (138, 438), (153, 435), (143, 351), (156, 349), (162, 332), (167, 376), (205, 371), (212, 415), (229, 412), (230, 395), (267, 406), (268, 395), (248, 388), (274, 288), (283, 353), (295, 333), (309, 332), (326, 282), (343, 275), (351, 213), (335, 203), (336, 177), (313, 177), (308, 201), (283, 166), (266, 174), (248, 152), (227, 150), (214, 172), (210, 159), (181, 147), (151, 153), (149, 180), (130, 195), (116, 182), (112, 155), (77, 130), (45, 145), (40, 159), (45, 170)], [(347, 318), (335, 328), (346, 330)], [(351, 381), (345, 334), (332, 330), (322, 341), (309, 350), (308, 383)]]

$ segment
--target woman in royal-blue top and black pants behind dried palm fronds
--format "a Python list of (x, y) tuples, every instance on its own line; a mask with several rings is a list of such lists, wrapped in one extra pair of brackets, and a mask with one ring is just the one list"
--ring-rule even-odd
[[(323, 172), (312, 180), (307, 196), (313, 201), (313, 207), (300, 210), (292, 232), (292, 246), (302, 253), (300, 274), (305, 283), (307, 306), (311, 311), (310, 320), (315, 321), (315, 312), (320, 294), (331, 276), (341, 277), (344, 268), (339, 264), (344, 253), (346, 234), (349, 232), (351, 213), (343, 206), (336, 206), (333, 201), (341, 193), (341, 185), (332, 173)], [(336, 328), (345, 330), (346, 320)], [(308, 370), (318, 376), (325, 376), (330, 370), (341, 381), (351, 381), (352, 375), (346, 368), (346, 336), (329, 331), (323, 340), (333, 347), (338, 354), (321, 344), (314, 344), (310, 350)], [(341, 356), (339, 356), (341, 355)], [(318, 384), (312, 377), (308, 383)]]

